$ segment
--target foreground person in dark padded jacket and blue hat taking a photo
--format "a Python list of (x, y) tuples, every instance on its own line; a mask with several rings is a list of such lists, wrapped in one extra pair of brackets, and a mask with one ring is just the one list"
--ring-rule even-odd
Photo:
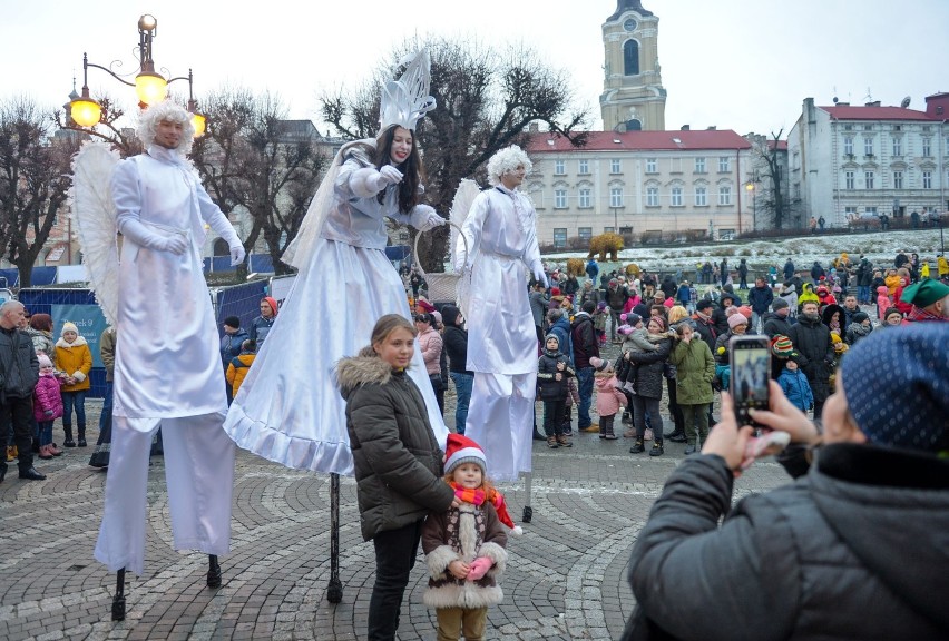
[(769, 385), (752, 416), (790, 435), (780, 461), (800, 477), (732, 507), (752, 427), (723, 393), (722, 421), (639, 532), (624, 639), (949, 638), (949, 326), (855, 345), (822, 433)]

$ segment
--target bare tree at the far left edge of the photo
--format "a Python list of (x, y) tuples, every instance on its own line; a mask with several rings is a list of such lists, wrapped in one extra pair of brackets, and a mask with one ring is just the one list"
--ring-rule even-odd
[(51, 120), (28, 98), (0, 102), (0, 247), (29, 287), (33, 264), (70, 185), (72, 138), (51, 139)]

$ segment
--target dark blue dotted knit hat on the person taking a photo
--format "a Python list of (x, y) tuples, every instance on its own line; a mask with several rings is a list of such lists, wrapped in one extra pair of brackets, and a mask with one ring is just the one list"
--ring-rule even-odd
[(847, 404), (877, 445), (949, 451), (949, 324), (873, 332), (841, 364)]

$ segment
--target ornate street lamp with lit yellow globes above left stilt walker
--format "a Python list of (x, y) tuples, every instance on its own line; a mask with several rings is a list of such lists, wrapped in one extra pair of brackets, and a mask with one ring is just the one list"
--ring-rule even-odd
[[(166, 79), (155, 71), (155, 60), (151, 58), (151, 43), (158, 34), (158, 20), (146, 13), (138, 19), (138, 72), (134, 81), (126, 80), (112, 69), (89, 62), (87, 53), (82, 53), (82, 93), (69, 102), (69, 116), (79, 127), (91, 128), (98, 125), (102, 118), (102, 105), (89, 95), (89, 67), (101, 69), (123, 85), (135, 87), (138, 96), (138, 106), (145, 109), (149, 105), (160, 102), (168, 95), (168, 85), (177, 80), (188, 81), (188, 111), (192, 114), (192, 125), (195, 128), (195, 137), (204, 134), (205, 117), (197, 111), (197, 101), (194, 98), (194, 79), (192, 70), (187, 76)], [(112, 62), (121, 66), (121, 61)], [(126, 77), (130, 76), (126, 75)]]

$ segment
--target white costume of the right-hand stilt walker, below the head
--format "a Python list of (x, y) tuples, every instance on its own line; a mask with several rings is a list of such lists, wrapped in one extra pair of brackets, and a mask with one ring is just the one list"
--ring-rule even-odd
[(470, 269), (466, 306), (468, 368), (474, 386), (464, 435), (478, 442), (497, 481), (531, 470), (537, 334), (528, 269), (540, 268), (537, 215), (530, 200), (503, 185), (482, 191), (462, 234)]

